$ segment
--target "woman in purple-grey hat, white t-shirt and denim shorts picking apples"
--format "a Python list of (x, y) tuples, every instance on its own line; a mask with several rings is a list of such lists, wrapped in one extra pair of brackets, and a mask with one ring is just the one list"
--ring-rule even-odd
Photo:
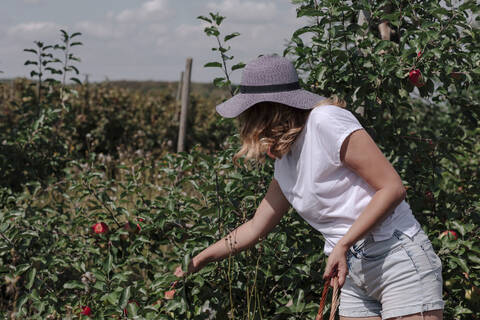
[(290, 205), (325, 237), (324, 279), (338, 276), (340, 319), (442, 319), (442, 266), (404, 201), (402, 180), (338, 99), (301, 90), (293, 65), (263, 56), (248, 63), (240, 94), (217, 106), (240, 116), (235, 155), (275, 159), (255, 216), (192, 259), (200, 270), (264, 237)]

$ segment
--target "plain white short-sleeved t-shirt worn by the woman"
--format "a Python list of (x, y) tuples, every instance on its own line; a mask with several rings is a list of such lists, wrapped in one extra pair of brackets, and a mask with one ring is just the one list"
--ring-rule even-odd
[[(323, 234), (327, 255), (375, 194), (362, 177), (340, 161), (343, 141), (360, 129), (362, 125), (347, 109), (316, 107), (290, 151), (275, 160), (274, 178), (293, 208)], [(405, 201), (371, 234), (375, 241), (386, 240), (395, 229), (408, 236), (420, 229)]]

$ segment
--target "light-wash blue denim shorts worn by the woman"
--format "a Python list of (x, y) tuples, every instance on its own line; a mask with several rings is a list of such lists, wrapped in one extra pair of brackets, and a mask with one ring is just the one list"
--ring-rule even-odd
[(422, 229), (413, 238), (398, 230), (383, 241), (367, 236), (348, 251), (347, 264), (341, 316), (389, 319), (445, 305), (442, 263)]

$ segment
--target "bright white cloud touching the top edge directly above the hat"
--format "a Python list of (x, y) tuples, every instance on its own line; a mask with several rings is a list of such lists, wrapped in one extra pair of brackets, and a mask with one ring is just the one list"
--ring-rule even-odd
[[(277, 6), (273, 1), (222, 0), (207, 3), (207, 9), (219, 12), (237, 22), (267, 22), (278, 17)], [(281, 21), (281, 20), (279, 20)]]

